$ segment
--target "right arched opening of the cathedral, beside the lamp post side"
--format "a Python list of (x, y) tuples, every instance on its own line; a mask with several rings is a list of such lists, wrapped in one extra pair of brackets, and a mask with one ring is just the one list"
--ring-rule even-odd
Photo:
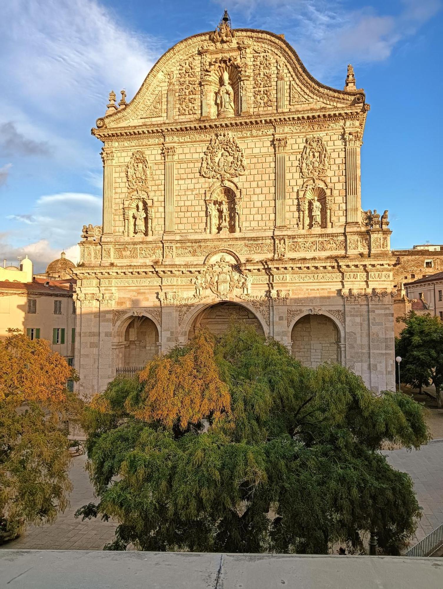
[(292, 327), (292, 355), (314, 368), (324, 362), (340, 362), (340, 333), (326, 315), (305, 315)]

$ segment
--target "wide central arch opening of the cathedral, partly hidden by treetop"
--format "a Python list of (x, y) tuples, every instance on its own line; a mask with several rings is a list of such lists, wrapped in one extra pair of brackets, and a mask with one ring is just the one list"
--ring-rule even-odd
[(216, 336), (222, 335), (233, 321), (243, 321), (246, 325), (254, 327), (257, 333), (265, 337), (262, 324), (252, 311), (242, 305), (228, 301), (216, 303), (203, 309), (194, 319), (189, 330), (189, 337), (193, 337), (196, 330), (201, 329), (201, 327), (206, 327), (206, 329), (209, 329)]

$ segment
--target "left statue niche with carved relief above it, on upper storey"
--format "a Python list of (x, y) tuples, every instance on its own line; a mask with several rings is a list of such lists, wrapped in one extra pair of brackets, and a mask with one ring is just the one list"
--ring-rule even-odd
[(124, 234), (127, 237), (152, 235), (153, 201), (149, 198), (152, 171), (141, 150), (134, 151), (126, 167), (128, 196), (124, 201)]

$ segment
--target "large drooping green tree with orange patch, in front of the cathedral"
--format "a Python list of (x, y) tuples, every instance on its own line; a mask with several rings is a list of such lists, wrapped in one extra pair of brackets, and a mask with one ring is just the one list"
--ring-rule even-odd
[(380, 450), (428, 441), (422, 406), (339, 365), (303, 368), (245, 326), (113, 380), (83, 426), (100, 501), (76, 517), (117, 518), (111, 550), (358, 551), (375, 531), (395, 552), (419, 517)]

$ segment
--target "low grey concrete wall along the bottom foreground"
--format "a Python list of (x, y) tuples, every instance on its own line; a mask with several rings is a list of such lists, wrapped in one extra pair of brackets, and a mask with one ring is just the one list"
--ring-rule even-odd
[(441, 589), (439, 558), (0, 551), (11, 589)]

